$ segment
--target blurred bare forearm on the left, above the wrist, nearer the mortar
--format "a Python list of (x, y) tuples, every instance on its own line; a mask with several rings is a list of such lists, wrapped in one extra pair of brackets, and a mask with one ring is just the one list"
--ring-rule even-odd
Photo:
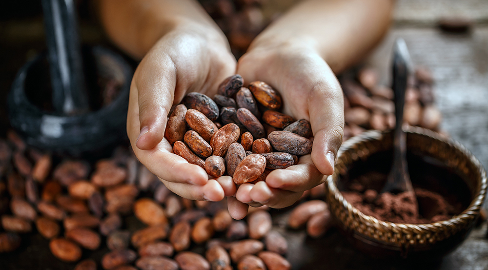
[(100, 15), (112, 41), (139, 59), (175, 29), (191, 28), (209, 39), (225, 41), (218, 26), (194, 0), (100, 0)]

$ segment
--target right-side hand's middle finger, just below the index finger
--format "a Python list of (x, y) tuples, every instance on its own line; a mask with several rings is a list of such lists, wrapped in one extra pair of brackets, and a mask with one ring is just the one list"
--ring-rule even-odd
[(300, 199), (303, 194), (303, 192), (272, 188), (264, 181), (256, 183), (249, 193), (251, 200), (267, 205), (270, 208), (285, 208), (291, 206)]

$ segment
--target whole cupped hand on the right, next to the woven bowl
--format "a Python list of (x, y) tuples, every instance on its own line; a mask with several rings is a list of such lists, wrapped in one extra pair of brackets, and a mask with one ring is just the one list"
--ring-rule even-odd
[[(253, 46), (254, 45), (254, 46)], [(310, 121), (312, 153), (295, 166), (273, 170), (265, 181), (241, 185), (229, 212), (244, 218), (248, 205), (284, 208), (334, 172), (344, 134), (344, 98), (334, 73), (312, 48), (300, 44), (252, 44), (238, 62), (244, 84), (263, 81), (280, 92), (283, 113)]]

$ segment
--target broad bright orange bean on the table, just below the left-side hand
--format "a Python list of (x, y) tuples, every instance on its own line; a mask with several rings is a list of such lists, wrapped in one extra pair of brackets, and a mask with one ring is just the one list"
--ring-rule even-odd
[(142, 198), (134, 203), (134, 214), (142, 223), (149, 226), (168, 224), (163, 207), (149, 198)]

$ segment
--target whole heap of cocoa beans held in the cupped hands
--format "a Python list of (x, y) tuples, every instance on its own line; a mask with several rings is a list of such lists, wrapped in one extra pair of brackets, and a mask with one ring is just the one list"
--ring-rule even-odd
[(310, 123), (279, 112), (276, 90), (259, 81), (243, 85), (236, 74), (220, 84), (213, 100), (188, 93), (164, 132), (175, 154), (212, 177), (232, 176), (237, 185), (263, 181), (312, 151)]

